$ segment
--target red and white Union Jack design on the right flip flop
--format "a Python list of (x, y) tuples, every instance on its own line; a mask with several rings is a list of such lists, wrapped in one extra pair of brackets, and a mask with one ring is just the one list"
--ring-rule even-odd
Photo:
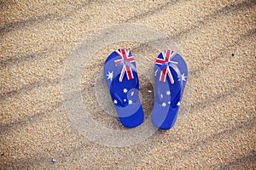
[[(173, 65), (177, 66), (177, 62), (171, 60), (175, 55), (176, 55), (176, 52), (171, 51), (171, 50), (168, 49), (165, 52), (163, 52), (155, 60), (155, 64), (157, 64), (157, 65), (164, 65), (166, 62), (171, 62)], [(160, 58), (161, 56), (162, 56), (162, 59)], [(156, 74), (156, 72), (155, 72), (155, 74)], [(168, 75), (168, 77), (171, 80), (171, 83), (173, 84), (174, 80), (173, 80), (172, 73), (171, 73), (170, 68), (169, 68), (168, 65), (166, 65), (166, 67), (160, 73), (160, 82), (166, 82), (166, 75)]]

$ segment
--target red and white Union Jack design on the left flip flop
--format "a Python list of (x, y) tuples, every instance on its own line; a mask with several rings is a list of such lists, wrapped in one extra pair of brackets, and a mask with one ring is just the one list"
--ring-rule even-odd
[[(116, 50), (115, 52), (117, 54), (119, 54), (121, 59), (114, 60), (114, 65), (118, 65), (122, 61), (135, 62), (133, 56), (129, 56), (130, 52), (127, 49), (121, 49), (120, 52), (119, 52), (119, 50)], [(122, 71), (121, 71), (121, 74), (120, 74), (120, 77), (119, 77), (119, 82), (123, 81), (125, 73), (126, 73), (126, 76), (127, 76), (128, 80), (131, 80), (131, 79), (134, 78), (132, 70), (131, 70), (131, 66), (124, 64), (123, 68), (122, 68)]]

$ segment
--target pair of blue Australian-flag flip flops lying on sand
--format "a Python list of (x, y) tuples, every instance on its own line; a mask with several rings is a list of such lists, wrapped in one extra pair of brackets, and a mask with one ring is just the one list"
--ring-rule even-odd
[[(108, 56), (104, 74), (120, 122), (125, 127), (143, 123), (143, 107), (139, 99), (137, 66), (131, 52), (118, 49)], [(165, 50), (155, 60), (155, 98), (152, 122), (160, 129), (171, 128), (177, 117), (188, 75), (181, 55)]]

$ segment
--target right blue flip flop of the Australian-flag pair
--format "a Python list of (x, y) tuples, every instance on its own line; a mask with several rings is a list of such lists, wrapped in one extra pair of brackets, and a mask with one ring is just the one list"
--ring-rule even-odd
[(170, 129), (176, 122), (188, 67), (180, 54), (165, 50), (155, 60), (155, 98), (152, 122), (160, 129)]

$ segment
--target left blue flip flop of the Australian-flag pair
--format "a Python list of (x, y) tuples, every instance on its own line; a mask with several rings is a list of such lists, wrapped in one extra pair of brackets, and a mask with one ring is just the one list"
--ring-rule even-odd
[(139, 80), (135, 60), (127, 49), (118, 49), (108, 56), (104, 75), (120, 122), (125, 127), (137, 127), (144, 114), (139, 99)]

